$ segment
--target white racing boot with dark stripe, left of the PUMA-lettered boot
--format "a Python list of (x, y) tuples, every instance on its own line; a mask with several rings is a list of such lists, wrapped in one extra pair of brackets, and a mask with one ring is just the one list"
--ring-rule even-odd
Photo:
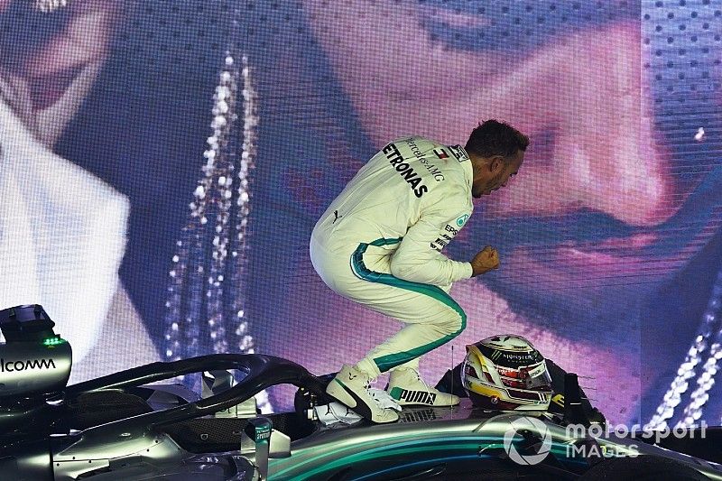
[(398, 412), (384, 409), (369, 393), (371, 378), (352, 365), (344, 365), (326, 388), (326, 393), (343, 402), (360, 416), (374, 422), (393, 422), (399, 419)]

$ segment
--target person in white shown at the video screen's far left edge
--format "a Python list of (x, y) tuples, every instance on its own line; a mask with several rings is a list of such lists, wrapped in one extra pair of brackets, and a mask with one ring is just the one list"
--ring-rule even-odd
[(0, 270), (23, 278), (0, 300), (42, 302), (76, 363), (97, 343), (116, 290), (125, 199), (52, 149), (106, 59), (121, 4), (69, 0), (42, 12), (34, 0), (0, 1)]

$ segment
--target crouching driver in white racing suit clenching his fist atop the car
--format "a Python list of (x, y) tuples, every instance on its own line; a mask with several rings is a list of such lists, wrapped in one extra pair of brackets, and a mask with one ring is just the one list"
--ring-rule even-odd
[(401, 405), (449, 406), (458, 397), (421, 380), (419, 357), (458, 336), (467, 316), (449, 296), (452, 282), (499, 266), (484, 247), (470, 262), (441, 254), (471, 215), (471, 198), (504, 187), (529, 139), (510, 125), (478, 125), (466, 147), (421, 137), (387, 144), (356, 173), (314, 227), (311, 262), (333, 291), (405, 326), (356, 365), (344, 365), (327, 392), (362, 416), (391, 422), (369, 386), (391, 371), (388, 392)]

